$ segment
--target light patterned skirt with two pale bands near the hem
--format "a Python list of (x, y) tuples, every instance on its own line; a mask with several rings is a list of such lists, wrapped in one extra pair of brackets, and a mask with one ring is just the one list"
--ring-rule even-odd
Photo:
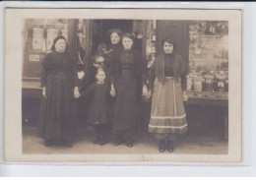
[(154, 133), (156, 138), (162, 137), (162, 139), (187, 132), (180, 80), (174, 81), (173, 77), (165, 77), (164, 83), (161, 84), (158, 78), (156, 79), (149, 132)]

